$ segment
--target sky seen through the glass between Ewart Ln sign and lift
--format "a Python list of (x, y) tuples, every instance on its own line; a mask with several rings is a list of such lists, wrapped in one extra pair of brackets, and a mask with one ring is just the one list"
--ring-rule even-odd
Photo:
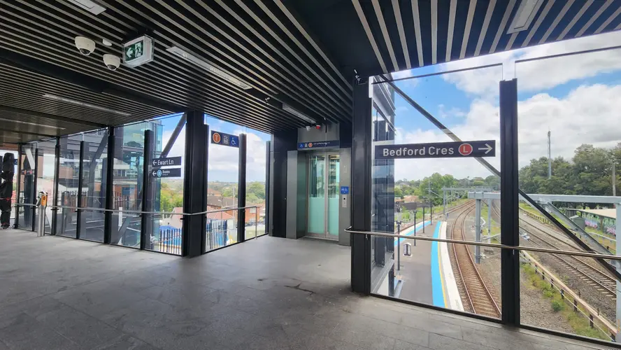
[[(178, 118), (166, 118), (162, 120), (162, 144), (165, 145), (168, 142), (178, 120)], [(209, 125), (209, 130), (234, 135), (245, 133), (246, 140), (248, 141), (246, 181), (265, 181), (265, 141), (269, 141), (269, 134), (252, 130), (248, 127), (241, 127), (240, 125), (228, 123), (210, 116), (205, 117), (205, 123)], [(209, 144), (209, 158), (207, 163), (208, 181), (237, 182), (238, 152), (238, 148)], [(183, 158), (185, 158), (185, 127), (183, 127), (175, 144), (173, 144), (169, 155), (171, 157), (183, 156)]]

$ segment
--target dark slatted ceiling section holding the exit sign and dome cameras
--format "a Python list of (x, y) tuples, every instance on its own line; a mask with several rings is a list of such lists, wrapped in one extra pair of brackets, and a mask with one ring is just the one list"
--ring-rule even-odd
[[(99, 15), (69, 1), (0, 0), (0, 106), (106, 125), (203, 109), (211, 116), (264, 132), (306, 124), (283, 111), (283, 103), (317, 121), (338, 123), (351, 118), (348, 79), (296, 27), (278, 0), (97, 3), (106, 8)], [(155, 60), (136, 68), (106, 69), (103, 55), (122, 56), (122, 43), (141, 34), (154, 39)], [(80, 55), (76, 36), (92, 38), (96, 50), (89, 56)], [(103, 45), (103, 38), (112, 45)], [(252, 89), (242, 90), (166, 51), (172, 46), (227, 71)], [(2, 113), (8, 119), (24, 116)], [(65, 122), (63, 127), (61, 134), (80, 129)], [(45, 134), (50, 132), (45, 130)]]

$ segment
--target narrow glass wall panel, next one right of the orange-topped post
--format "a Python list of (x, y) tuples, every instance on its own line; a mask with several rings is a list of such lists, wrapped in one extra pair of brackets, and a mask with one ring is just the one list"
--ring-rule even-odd
[(80, 181), (80, 141), (76, 134), (60, 138), (56, 234), (76, 237), (78, 228), (78, 183)]

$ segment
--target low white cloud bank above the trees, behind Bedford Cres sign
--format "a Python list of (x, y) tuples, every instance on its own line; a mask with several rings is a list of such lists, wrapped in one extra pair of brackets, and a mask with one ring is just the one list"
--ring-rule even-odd
[[(621, 85), (580, 86), (563, 98), (536, 94), (518, 102), (519, 165), (548, 153), (548, 127), (552, 131), (552, 157), (573, 157), (580, 144), (611, 148), (621, 141)], [(477, 99), (472, 102), (464, 122), (450, 127), (463, 140), (497, 140), (499, 145), (499, 109), (497, 102)], [(422, 118), (422, 117), (420, 117)], [(451, 141), (440, 130), (397, 129), (396, 144)], [(500, 169), (500, 150), (496, 158), (487, 158)], [(458, 179), (489, 176), (491, 173), (473, 159), (396, 160), (396, 179), (422, 179), (434, 172), (452, 174)]]

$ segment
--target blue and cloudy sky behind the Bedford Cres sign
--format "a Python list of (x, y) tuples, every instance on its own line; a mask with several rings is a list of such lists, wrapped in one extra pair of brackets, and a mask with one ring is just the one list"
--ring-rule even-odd
[[(498, 146), (499, 81), (517, 78), (519, 165), (523, 167), (531, 159), (547, 156), (548, 130), (552, 133), (552, 158), (569, 160), (580, 144), (612, 148), (621, 142), (621, 49), (531, 62), (515, 60), (618, 43), (621, 31), (401, 71), (393, 77), (501, 64), (401, 80), (397, 86), (460, 139), (494, 139)], [(395, 144), (451, 141), (398, 94), (395, 107)], [(487, 158), (497, 169), (499, 154), (497, 148), (497, 157)], [(491, 175), (473, 159), (395, 161), (396, 179), (422, 179), (434, 172), (457, 179)]]

